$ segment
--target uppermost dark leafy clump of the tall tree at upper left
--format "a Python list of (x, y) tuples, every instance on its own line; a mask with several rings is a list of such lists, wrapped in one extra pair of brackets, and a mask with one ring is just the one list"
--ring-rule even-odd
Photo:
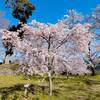
[(6, 7), (11, 8), (14, 18), (26, 23), (32, 11), (35, 10), (29, 0), (5, 0)]

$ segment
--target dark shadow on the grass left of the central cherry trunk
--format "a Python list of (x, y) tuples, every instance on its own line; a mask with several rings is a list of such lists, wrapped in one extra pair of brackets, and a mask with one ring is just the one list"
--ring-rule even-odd
[[(28, 88), (28, 93), (35, 95), (35, 93), (38, 92), (38, 93), (45, 93), (46, 95), (48, 95), (48, 90), (49, 90), (48, 86), (40, 86), (40, 85), (31, 84)], [(23, 94), (21, 95), (22, 97), (25, 97), (24, 91), (25, 91), (24, 84), (16, 84), (11, 87), (0, 88), (1, 100), (8, 100), (7, 99), (8, 96), (11, 94), (14, 94), (15, 92), (23, 92)], [(14, 96), (15, 98), (18, 97), (16, 93)], [(13, 99), (13, 100), (16, 100), (16, 99)]]

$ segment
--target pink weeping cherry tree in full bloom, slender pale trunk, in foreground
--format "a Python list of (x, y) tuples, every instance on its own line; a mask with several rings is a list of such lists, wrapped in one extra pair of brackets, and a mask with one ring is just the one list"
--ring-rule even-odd
[[(44, 24), (32, 20), (31, 25), (22, 27), (23, 39), (18, 37), (19, 32), (3, 30), (4, 43), (11, 43), (23, 53), (20, 62), (22, 73), (25, 75), (48, 73), (49, 92), (52, 95), (52, 75), (61, 67), (58, 66), (59, 59), (63, 61), (66, 69), (71, 70), (71, 64), (69, 66), (67, 64), (71, 58), (69, 55), (87, 52), (91, 39), (90, 24), (75, 24), (69, 28), (63, 20), (56, 24)], [(80, 64), (84, 65), (82, 61)]]

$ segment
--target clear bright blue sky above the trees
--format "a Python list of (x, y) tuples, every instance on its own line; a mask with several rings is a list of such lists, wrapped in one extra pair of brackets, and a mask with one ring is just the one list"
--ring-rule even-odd
[[(17, 24), (18, 20), (11, 15), (11, 9), (5, 8), (5, 0), (0, 0), (0, 11), (3, 11), (4, 18), (8, 19), (10, 25)], [(29, 18), (28, 22), (36, 19), (43, 23), (56, 23), (58, 19), (62, 18), (69, 9), (75, 9), (83, 15), (90, 14), (100, 0), (29, 0), (35, 5), (36, 10)], [(1, 40), (1, 39), (0, 39)], [(0, 47), (2, 43), (0, 41)], [(0, 48), (0, 60), (4, 58), (4, 48)], [(2, 55), (2, 56), (1, 56)]]

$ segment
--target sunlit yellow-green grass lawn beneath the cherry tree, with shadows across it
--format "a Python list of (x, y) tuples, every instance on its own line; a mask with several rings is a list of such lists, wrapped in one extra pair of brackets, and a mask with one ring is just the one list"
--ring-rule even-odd
[[(100, 75), (55, 76), (53, 96), (48, 94), (48, 79), (34, 76), (25, 80), (23, 76), (0, 76), (0, 100), (100, 100)], [(24, 95), (23, 84), (30, 83), (28, 96)]]

